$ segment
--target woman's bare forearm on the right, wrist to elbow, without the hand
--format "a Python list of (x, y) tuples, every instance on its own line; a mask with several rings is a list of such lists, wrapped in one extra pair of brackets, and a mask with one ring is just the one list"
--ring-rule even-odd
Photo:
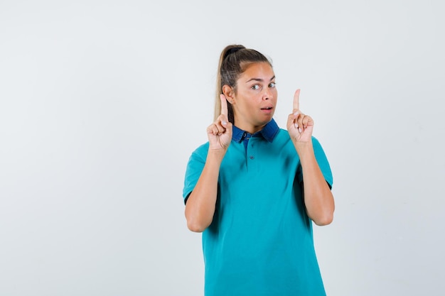
[(303, 194), (306, 212), (315, 224), (323, 226), (333, 220), (335, 208), (333, 194), (321, 172), (312, 143), (299, 146), (301, 168), (303, 170)]

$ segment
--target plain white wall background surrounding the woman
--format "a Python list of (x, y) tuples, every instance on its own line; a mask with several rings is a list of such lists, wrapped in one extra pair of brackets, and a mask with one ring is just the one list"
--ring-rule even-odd
[(0, 295), (202, 295), (183, 175), (225, 45), (331, 162), (330, 296), (444, 295), (443, 1), (0, 1)]

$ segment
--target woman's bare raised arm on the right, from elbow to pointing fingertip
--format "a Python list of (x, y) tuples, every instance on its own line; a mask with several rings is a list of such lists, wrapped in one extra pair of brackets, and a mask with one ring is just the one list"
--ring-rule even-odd
[(312, 145), (313, 120), (299, 110), (299, 94), (300, 90), (297, 89), (287, 130), (300, 157), (306, 212), (315, 224), (328, 225), (333, 220), (335, 209), (333, 194), (316, 161)]

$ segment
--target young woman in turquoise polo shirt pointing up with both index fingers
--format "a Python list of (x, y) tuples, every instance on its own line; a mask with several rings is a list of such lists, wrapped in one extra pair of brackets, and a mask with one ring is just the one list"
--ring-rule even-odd
[(183, 189), (187, 226), (203, 232), (205, 296), (326, 295), (312, 221), (333, 219), (333, 178), (299, 89), (286, 131), (273, 119), (272, 63), (229, 45), (216, 92), (208, 143), (192, 153)]

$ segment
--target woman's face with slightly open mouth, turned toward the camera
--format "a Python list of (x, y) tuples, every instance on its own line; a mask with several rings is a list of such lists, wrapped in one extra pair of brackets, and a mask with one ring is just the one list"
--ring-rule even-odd
[(232, 92), (230, 101), (235, 125), (244, 131), (260, 131), (271, 121), (277, 106), (277, 89), (274, 70), (269, 63), (249, 65), (238, 78), (236, 92)]

